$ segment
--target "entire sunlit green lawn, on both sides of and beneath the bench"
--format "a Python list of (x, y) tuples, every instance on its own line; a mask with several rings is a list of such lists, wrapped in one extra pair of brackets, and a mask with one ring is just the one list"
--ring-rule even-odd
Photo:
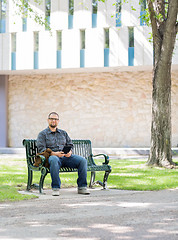
[[(96, 160), (102, 163), (102, 160)], [(175, 161), (176, 162), (176, 161)], [(123, 190), (162, 190), (178, 187), (178, 169), (151, 168), (146, 160), (111, 159), (112, 172), (108, 187)], [(177, 162), (178, 163), (178, 162)], [(18, 190), (25, 190), (27, 167), (25, 159), (0, 159), (0, 202), (35, 198), (34, 195), (22, 195)], [(96, 180), (102, 181), (103, 172), (96, 172)], [(62, 187), (77, 187), (77, 173), (62, 173)], [(39, 172), (34, 172), (33, 183), (38, 183)], [(88, 172), (88, 182), (90, 173)], [(44, 188), (50, 188), (50, 174), (45, 178)]]

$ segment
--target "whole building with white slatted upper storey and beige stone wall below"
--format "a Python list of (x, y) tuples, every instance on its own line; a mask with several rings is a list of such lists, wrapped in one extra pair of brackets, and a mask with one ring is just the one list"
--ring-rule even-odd
[[(131, 2), (131, 1), (130, 1)], [(95, 147), (147, 147), (151, 132), (153, 47), (146, 4), (33, 0), (39, 25), (13, 0), (0, 4), (0, 147), (21, 147), (47, 126)], [(132, 10), (135, 8), (135, 11)], [(172, 67), (173, 146), (178, 144), (178, 42)]]

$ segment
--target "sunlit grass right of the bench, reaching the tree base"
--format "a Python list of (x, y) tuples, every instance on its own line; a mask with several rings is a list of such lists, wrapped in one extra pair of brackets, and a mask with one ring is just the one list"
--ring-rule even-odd
[[(176, 161), (174, 161), (176, 162)], [(111, 188), (153, 191), (178, 187), (178, 169), (152, 168), (146, 160), (111, 160)]]

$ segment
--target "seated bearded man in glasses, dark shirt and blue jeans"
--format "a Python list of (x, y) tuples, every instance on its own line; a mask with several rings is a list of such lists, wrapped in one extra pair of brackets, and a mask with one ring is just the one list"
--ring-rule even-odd
[(72, 145), (72, 141), (67, 132), (58, 129), (59, 115), (51, 112), (48, 115), (48, 127), (38, 134), (37, 147), (39, 152), (43, 152), (47, 148), (52, 150), (48, 161), (50, 164), (50, 174), (52, 179), (53, 196), (59, 196), (61, 180), (59, 171), (61, 167), (71, 167), (78, 169), (78, 193), (90, 194), (87, 189), (87, 160), (81, 156), (72, 154), (70, 150), (65, 154), (62, 150), (65, 145)]

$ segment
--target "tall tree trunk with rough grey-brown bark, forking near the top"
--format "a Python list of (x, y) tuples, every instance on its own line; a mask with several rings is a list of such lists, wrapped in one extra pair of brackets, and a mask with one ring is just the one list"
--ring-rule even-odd
[[(171, 62), (177, 33), (178, 1), (168, 1), (167, 18), (162, 14), (164, 1), (147, 1), (154, 47), (151, 146), (147, 164), (170, 168), (175, 165), (171, 152)], [(158, 14), (164, 19), (158, 19)]]

